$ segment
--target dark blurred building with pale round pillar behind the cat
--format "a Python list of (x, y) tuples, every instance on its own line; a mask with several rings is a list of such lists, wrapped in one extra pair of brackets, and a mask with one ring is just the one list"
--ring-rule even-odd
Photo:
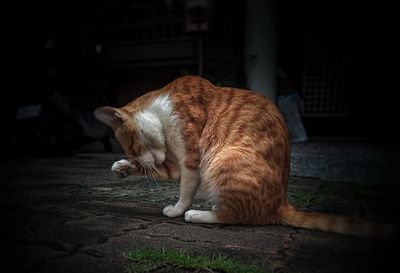
[[(384, 89), (392, 58), (389, 24), (371, 20), (379, 7), (333, 0), (84, 0), (13, 7), (7, 41), (20, 96), (6, 106), (7, 117), (14, 122), (21, 105), (47, 105), (41, 108), (47, 117), (62, 118), (46, 130), (59, 130), (60, 120), (76, 123), (99, 105), (121, 106), (186, 74), (275, 100), (283, 70), (303, 100), (311, 138), (386, 137), (382, 121), (395, 108)], [(65, 128), (59, 134), (69, 136)]]

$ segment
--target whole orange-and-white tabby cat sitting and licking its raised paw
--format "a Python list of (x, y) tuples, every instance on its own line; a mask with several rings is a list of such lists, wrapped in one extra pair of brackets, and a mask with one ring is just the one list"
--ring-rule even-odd
[[(263, 96), (178, 78), (121, 108), (95, 111), (128, 159), (118, 177), (153, 173), (180, 178), (180, 197), (163, 209), (193, 223), (286, 224), (358, 236), (384, 235), (386, 226), (361, 219), (302, 212), (287, 200), (290, 147), (285, 121)], [(201, 188), (210, 211), (188, 210)]]

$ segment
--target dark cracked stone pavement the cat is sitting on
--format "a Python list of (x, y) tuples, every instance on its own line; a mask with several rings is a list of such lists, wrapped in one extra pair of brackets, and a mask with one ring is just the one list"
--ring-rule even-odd
[[(3, 159), (0, 272), (126, 272), (141, 247), (222, 254), (271, 272), (397, 272), (394, 241), (284, 226), (223, 226), (168, 219), (178, 184), (113, 177), (119, 154)], [(397, 196), (382, 187), (292, 177), (302, 209), (393, 219)], [(397, 192), (396, 192), (397, 193)], [(197, 199), (193, 207), (207, 208)]]

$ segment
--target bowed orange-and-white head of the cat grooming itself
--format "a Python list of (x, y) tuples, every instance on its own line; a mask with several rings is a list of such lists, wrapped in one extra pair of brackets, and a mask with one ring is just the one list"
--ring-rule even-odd
[(128, 159), (140, 164), (164, 162), (166, 144), (161, 122), (151, 115), (133, 115), (123, 108), (104, 106), (94, 111), (95, 117), (111, 127)]

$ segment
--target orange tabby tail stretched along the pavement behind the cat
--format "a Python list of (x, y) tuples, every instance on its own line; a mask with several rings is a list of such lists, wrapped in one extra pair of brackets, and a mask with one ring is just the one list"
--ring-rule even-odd
[(286, 204), (280, 209), (281, 224), (292, 227), (335, 232), (365, 238), (393, 238), (396, 229), (393, 225), (370, 220), (330, 215), (318, 212), (305, 212)]

